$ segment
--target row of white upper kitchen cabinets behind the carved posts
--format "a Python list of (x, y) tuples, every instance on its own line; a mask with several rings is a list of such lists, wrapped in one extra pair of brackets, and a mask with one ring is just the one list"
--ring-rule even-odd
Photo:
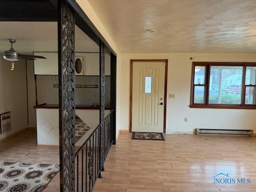
[[(46, 59), (34, 60), (35, 75), (58, 75), (58, 53), (57, 52), (34, 52), (35, 55), (46, 57)], [(75, 54), (76, 58), (82, 57), (82, 72), (76, 75), (99, 76), (100, 54), (82, 53)], [(110, 55), (105, 54), (105, 75), (110, 76)]]

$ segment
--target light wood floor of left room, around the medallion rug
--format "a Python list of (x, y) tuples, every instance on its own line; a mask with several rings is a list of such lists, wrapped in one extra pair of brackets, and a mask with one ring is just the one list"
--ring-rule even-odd
[[(0, 142), (0, 161), (59, 164), (58, 148), (36, 147), (36, 130), (26, 130), (8, 140)], [(44, 192), (60, 189), (57, 174)]]

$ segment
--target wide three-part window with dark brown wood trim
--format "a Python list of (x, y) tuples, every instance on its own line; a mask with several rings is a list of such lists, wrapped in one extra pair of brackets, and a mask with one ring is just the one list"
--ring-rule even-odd
[(256, 109), (256, 63), (192, 62), (190, 107)]

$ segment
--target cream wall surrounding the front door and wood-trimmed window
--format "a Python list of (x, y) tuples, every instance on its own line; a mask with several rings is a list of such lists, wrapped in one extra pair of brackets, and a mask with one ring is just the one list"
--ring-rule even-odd
[[(252, 129), (256, 132), (256, 110), (189, 108), (192, 61), (255, 62), (256, 54), (170, 53), (121, 54), (119, 112), (120, 129), (129, 129), (130, 59), (168, 59), (166, 132), (192, 134), (195, 128)], [(184, 122), (184, 118), (188, 122)]]

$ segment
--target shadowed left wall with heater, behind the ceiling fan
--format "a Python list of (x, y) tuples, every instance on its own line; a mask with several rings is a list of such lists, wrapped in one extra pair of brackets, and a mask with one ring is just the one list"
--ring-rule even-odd
[(12, 130), (0, 134), (0, 139), (28, 127), (26, 64), (25, 60), (15, 63), (11, 71), (10, 61), (0, 56), (0, 113), (11, 112)]

